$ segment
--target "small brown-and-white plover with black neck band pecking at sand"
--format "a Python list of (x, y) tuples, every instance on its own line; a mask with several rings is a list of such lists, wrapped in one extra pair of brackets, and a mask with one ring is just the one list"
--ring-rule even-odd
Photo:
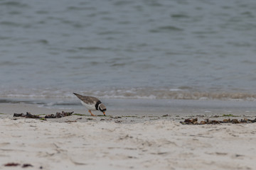
[(103, 115), (106, 115), (105, 112), (107, 111), (107, 108), (98, 98), (93, 96), (82, 96), (80, 94), (75, 94), (75, 96), (81, 100), (82, 105), (88, 109), (92, 116), (95, 116), (92, 114), (92, 111), (101, 111)]

